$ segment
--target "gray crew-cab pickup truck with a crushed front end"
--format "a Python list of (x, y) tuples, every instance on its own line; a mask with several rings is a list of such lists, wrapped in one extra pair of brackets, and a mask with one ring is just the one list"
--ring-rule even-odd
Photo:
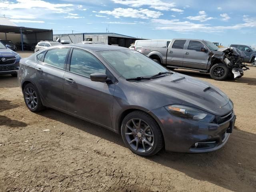
[(242, 64), (245, 55), (240, 50), (221, 48), (220, 51), (206, 40), (136, 40), (134, 45), (135, 50), (166, 68), (206, 72), (215, 80), (224, 80), (228, 76), (240, 78), (243, 76), (243, 67), (246, 67)]

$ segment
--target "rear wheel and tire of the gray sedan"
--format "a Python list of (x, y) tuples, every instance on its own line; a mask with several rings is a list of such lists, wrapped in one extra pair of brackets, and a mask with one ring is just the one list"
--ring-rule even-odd
[(39, 112), (44, 110), (45, 107), (42, 104), (39, 92), (32, 83), (29, 83), (24, 87), (23, 97), (25, 104), (30, 111)]

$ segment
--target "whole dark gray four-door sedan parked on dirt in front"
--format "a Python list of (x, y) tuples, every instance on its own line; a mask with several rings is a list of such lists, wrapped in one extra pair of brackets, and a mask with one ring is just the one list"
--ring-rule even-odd
[(50, 107), (104, 126), (141, 156), (163, 146), (217, 150), (236, 119), (232, 101), (218, 88), (117, 46), (52, 46), (20, 60), (18, 82), (32, 112)]

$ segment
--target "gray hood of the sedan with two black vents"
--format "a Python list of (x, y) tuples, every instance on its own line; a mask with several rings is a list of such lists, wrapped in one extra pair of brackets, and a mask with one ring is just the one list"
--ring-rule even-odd
[(214, 113), (229, 102), (228, 96), (212, 84), (179, 73), (144, 81), (138, 85), (158, 93), (162, 106), (184, 104)]

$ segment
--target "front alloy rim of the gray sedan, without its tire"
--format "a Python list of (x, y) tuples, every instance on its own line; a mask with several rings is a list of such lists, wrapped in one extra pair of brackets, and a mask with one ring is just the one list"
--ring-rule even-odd
[(137, 152), (149, 152), (154, 146), (154, 133), (140, 118), (132, 118), (126, 122), (124, 135), (128, 144)]

